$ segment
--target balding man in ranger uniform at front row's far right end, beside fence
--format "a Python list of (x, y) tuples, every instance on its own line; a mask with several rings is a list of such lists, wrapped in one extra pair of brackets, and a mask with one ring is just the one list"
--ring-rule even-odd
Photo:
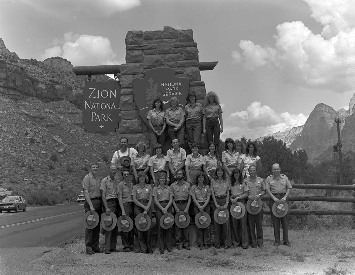
[(287, 197), (290, 194), (292, 185), (290, 184), (287, 176), (280, 174), (280, 165), (275, 163), (272, 165), (273, 175), (268, 176), (265, 181), (266, 193), (270, 196), (269, 207), (270, 215), (272, 218), (272, 223), (274, 225), (274, 246), (280, 244), (280, 220), (282, 224), (282, 234), (284, 239), (284, 245), (291, 246), (288, 239), (288, 215), (286, 214), (282, 218), (275, 217), (272, 212), (272, 206), (274, 203), (280, 204), (286, 201), (288, 203)]

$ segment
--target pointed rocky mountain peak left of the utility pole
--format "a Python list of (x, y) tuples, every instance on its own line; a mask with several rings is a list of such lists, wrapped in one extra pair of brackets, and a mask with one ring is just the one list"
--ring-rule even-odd
[(308, 117), (301, 135), (292, 142), (290, 149), (305, 149), (310, 161), (316, 159), (337, 143), (335, 117), (337, 112), (332, 107), (323, 103), (317, 104)]

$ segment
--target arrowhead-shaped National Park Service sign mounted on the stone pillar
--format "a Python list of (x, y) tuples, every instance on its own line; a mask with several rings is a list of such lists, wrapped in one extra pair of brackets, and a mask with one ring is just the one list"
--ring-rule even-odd
[(144, 72), (144, 79), (133, 79), (135, 103), (144, 122), (147, 123), (148, 111), (152, 110), (152, 104), (157, 97), (163, 101), (164, 111), (170, 107), (167, 103), (173, 96), (179, 99), (179, 107), (184, 108), (189, 93), (189, 79), (175, 74), (175, 69), (159, 67)]

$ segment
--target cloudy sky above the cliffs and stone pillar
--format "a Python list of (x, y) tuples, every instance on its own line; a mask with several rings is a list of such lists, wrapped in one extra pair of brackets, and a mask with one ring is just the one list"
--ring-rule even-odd
[(0, 0), (0, 37), (20, 58), (125, 63), (127, 31), (192, 29), (225, 138), (305, 123), (355, 93), (355, 0)]

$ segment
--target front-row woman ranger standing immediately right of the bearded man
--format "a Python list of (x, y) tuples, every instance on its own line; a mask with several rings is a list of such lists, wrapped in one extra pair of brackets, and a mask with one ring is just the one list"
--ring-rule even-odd
[[(190, 194), (194, 204), (193, 213), (195, 216), (198, 212), (206, 212), (209, 216), (211, 212), (209, 208), (211, 190), (207, 185), (207, 177), (203, 172), (198, 172), (196, 175), (196, 184), (191, 187)], [(197, 227), (197, 243), (201, 250), (209, 248), (209, 245), (211, 244), (209, 227), (204, 229)]]

